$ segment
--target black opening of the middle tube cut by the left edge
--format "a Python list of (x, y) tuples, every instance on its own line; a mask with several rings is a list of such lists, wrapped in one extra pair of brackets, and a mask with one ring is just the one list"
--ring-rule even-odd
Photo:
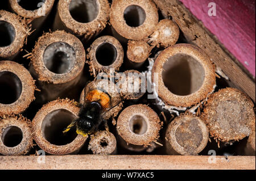
[(12, 104), (19, 99), (22, 93), (22, 82), (19, 77), (10, 71), (0, 72), (0, 103)]

